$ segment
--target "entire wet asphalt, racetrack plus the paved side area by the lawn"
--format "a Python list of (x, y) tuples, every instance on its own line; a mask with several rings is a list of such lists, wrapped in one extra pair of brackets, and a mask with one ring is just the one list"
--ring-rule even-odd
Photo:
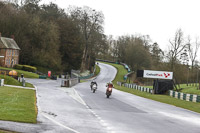
[(90, 81), (73, 91), (60, 87), (60, 80), (27, 79), (37, 87), (38, 123), (0, 121), (0, 128), (28, 133), (200, 133), (199, 113), (115, 89), (106, 98), (105, 85), (116, 69), (99, 66), (96, 93)]

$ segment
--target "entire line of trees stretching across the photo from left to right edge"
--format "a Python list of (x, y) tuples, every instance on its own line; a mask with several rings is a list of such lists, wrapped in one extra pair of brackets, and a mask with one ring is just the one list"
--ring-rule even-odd
[[(40, 70), (70, 72), (93, 70), (95, 59), (120, 61), (131, 70), (173, 71), (180, 83), (198, 82), (198, 38), (185, 37), (178, 29), (163, 51), (149, 35), (104, 34), (104, 15), (90, 7), (56, 4), (39, 5), (41, 0), (0, 2), (0, 32), (15, 36), (20, 64)], [(116, 27), (117, 28), (117, 27)]]

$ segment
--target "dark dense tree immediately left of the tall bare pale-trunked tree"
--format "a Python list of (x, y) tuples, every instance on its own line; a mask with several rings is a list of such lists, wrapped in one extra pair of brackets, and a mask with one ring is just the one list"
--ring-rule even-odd
[(58, 20), (60, 31), (60, 53), (64, 72), (80, 69), (82, 56), (82, 34), (73, 21), (66, 17)]

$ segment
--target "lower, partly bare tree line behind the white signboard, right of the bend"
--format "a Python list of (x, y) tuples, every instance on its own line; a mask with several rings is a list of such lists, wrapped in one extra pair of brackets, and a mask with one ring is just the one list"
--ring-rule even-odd
[[(108, 37), (107, 55), (99, 58), (121, 61), (132, 71), (160, 70), (174, 72), (176, 83), (198, 83), (200, 79), (197, 53), (200, 42), (197, 38), (185, 37), (178, 29), (163, 51), (159, 44), (152, 42), (149, 35), (125, 35), (117, 39)], [(135, 75), (134, 75), (135, 76)], [(133, 78), (135, 79), (135, 77)], [(141, 79), (144, 80), (144, 79)]]

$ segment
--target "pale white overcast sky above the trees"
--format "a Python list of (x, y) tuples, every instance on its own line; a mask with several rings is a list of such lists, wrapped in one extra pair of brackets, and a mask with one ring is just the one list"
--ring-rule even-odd
[(194, 40), (200, 36), (200, 0), (42, 0), (67, 9), (69, 5), (102, 11), (106, 35), (149, 35), (165, 50), (176, 30)]

